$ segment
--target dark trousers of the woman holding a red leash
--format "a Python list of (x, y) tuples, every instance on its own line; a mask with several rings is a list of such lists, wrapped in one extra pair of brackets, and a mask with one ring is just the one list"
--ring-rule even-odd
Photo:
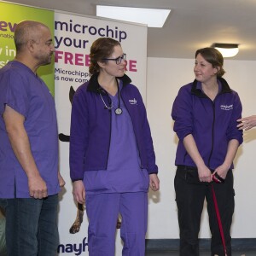
[(174, 186), (180, 229), (180, 256), (199, 255), (198, 234), (205, 198), (212, 233), (211, 255), (224, 256), (224, 247), (212, 198), (212, 184), (218, 201), (227, 253), (231, 256), (230, 227), (235, 207), (232, 171), (228, 172), (224, 183), (201, 183), (195, 168), (178, 166)]

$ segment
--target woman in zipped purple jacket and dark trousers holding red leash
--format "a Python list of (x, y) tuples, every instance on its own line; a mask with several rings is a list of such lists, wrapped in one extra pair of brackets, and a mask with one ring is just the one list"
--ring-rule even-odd
[(242, 143), (242, 132), (236, 127), (236, 120), (241, 118), (241, 102), (236, 91), (222, 78), (223, 63), (217, 49), (198, 49), (195, 81), (179, 90), (172, 107), (174, 131), (179, 138), (174, 185), (180, 256), (199, 255), (198, 234), (205, 198), (212, 232), (211, 255), (224, 255), (212, 185), (227, 254), (231, 255), (230, 226), (235, 207), (232, 169), (237, 148)]

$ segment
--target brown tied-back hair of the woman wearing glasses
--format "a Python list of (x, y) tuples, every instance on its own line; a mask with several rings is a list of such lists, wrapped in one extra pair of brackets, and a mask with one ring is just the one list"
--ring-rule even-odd
[(89, 73), (94, 74), (100, 71), (100, 66), (97, 61), (107, 62), (102, 60), (108, 58), (113, 53), (113, 48), (120, 45), (119, 41), (113, 38), (98, 38), (91, 44), (90, 47), (90, 67)]

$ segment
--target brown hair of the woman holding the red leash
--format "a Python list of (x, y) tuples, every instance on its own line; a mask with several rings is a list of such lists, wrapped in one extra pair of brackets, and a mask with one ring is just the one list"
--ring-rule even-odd
[(225, 73), (223, 64), (224, 64), (224, 58), (223, 55), (218, 51), (218, 49), (215, 49), (213, 47), (206, 47), (202, 49), (197, 49), (195, 52), (195, 58), (197, 55), (201, 54), (202, 57), (212, 64), (212, 67), (219, 67), (217, 76), (222, 77)]

